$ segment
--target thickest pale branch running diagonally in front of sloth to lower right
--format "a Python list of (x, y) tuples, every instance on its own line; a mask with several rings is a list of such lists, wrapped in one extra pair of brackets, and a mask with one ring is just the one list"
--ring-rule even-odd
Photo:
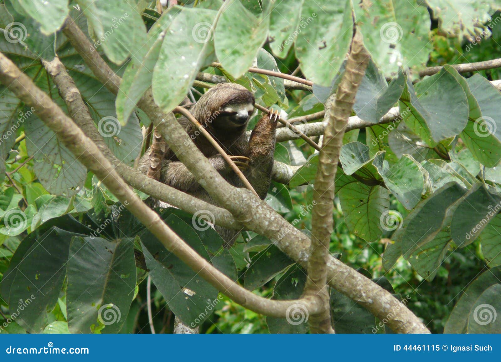
[[(65, 27), (65, 34), (72, 33), (74, 27)], [(77, 27), (78, 29), (78, 27)], [(80, 31), (81, 33), (81, 31)], [(83, 34), (83, 33), (82, 33)], [(99, 54), (91, 49), (87, 38), (68, 35), (73, 46), (86, 64), (94, 71)], [(102, 61), (102, 60), (101, 60)], [(104, 61), (102, 61), (104, 63)], [(105, 63), (106, 64), (106, 63)], [(109, 67), (106, 65), (109, 69)], [(110, 69), (111, 70), (111, 69)], [(107, 77), (108, 72), (96, 70), (94, 73), (103, 84), (115, 84)], [(310, 239), (301, 231), (292, 227), (270, 206), (261, 202), (245, 189), (237, 189), (223, 181), (221, 176), (211, 167), (200, 151), (190, 142), (189, 136), (172, 114), (163, 113), (153, 101), (151, 90), (147, 91), (139, 103), (139, 107), (159, 127), (162, 136), (178, 158), (186, 165), (210, 195), (214, 195), (220, 204), (228, 209), (238, 222), (251, 230), (255, 230), (272, 240), (291, 258), (306, 267)], [(186, 142), (187, 146), (184, 144)], [(284, 240), (284, 232), (289, 230)], [(334, 257), (329, 258), (330, 284), (341, 293), (358, 301), (381, 320), (388, 320), (388, 325), (400, 333), (429, 333), (424, 324), (401, 302), (387, 290), (373, 283), (362, 274), (343, 264)]]

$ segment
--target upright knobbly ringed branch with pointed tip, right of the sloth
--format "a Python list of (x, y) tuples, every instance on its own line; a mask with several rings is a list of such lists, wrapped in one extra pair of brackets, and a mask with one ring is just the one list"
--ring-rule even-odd
[[(308, 258), (308, 279), (305, 294), (325, 294), (329, 306), (327, 289), (327, 262), (333, 231), (334, 179), (338, 168), (339, 154), (343, 146), (343, 136), (348, 125), (358, 87), (369, 64), (369, 54), (364, 48), (362, 35), (356, 31), (351, 51), (346, 61), (346, 72), (335, 96), (326, 104), (329, 114), (324, 131), (322, 150), (319, 152), (317, 175), (313, 189), (314, 207), (312, 211), (312, 243)], [(332, 103), (333, 102), (333, 103)], [(310, 329), (322, 333), (331, 329), (329, 308), (310, 318)]]

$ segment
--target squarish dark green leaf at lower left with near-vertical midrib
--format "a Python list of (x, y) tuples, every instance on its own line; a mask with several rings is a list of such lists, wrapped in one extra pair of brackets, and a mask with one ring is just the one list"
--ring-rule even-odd
[(74, 237), (68, 260), (66, 303), (72, 333), (118, 333), (136, 287), (133, 240)]

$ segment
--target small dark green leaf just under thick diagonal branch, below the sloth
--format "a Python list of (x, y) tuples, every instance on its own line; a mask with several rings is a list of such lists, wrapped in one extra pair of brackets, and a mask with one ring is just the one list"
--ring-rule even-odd
[(277, 246), (270, 245), (252, 257), (244, 275), (243, 285), (245, 289), (257, 289), (294, 263), (295, 261)]

